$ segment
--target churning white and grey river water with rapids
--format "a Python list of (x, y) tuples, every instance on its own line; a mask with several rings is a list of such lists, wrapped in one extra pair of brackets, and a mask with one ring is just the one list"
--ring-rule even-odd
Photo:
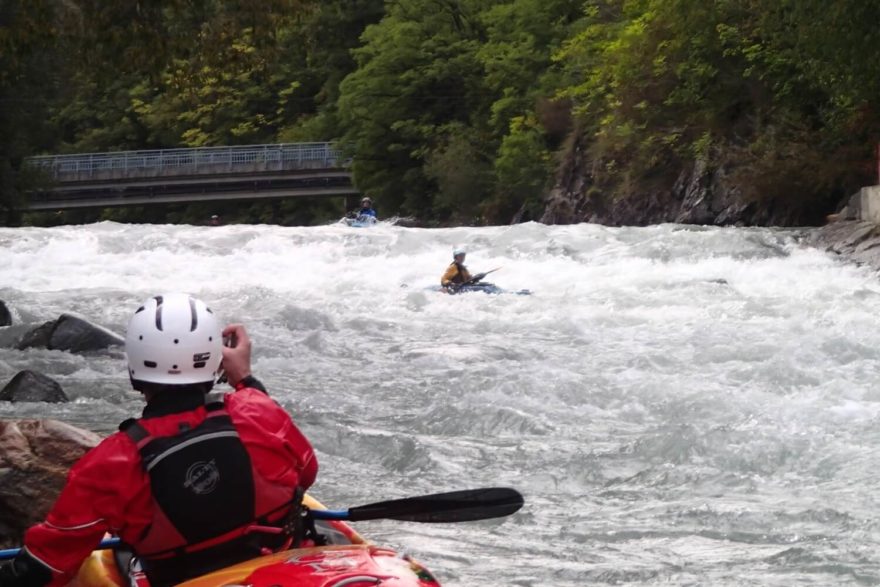
[[(447, 586), (880, 584), (880, 283), (798, 231), (662, 225), (0, 228), (0, 403), (105, 433), (120, 350), (10, 349), (76, 311), (120, 333), (187, 291), (254, 339), (336, 508), (502, 485), (502, 520), (362, 523)], [(429, 291), (471, 270), (533, 295)]]

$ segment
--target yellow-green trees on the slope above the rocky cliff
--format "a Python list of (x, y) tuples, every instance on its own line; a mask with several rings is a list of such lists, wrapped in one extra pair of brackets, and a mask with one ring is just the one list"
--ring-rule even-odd
[[(859, 181), (853, 159), (865, 160), (870, 141), (854, 122), (876, 128), (866, 94), (837, 88), (876, 74), (852, 42), (876, 38), (863, 24), (868, 4), (591, 2), (557, 59), (594, 181), (631, 197), (702, 159), (728, 169), (746, 199), (815, 220)], [(854, 36), (835, 29), (844, 23)]]

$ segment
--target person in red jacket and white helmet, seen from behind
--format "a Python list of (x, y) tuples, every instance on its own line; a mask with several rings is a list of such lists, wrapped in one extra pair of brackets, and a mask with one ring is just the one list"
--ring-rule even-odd
[[(0, 587), (66, 584), (105, 532), (131, 546), (154, 587), (177, 584), (259, 556), (266, 536), (245, 529), (277, 524), (314, 482), (311, 445), (251, 375), (243, 326), (221, 328), (185, 294), (156, 296), (132, 317), (125, 350), (143, 416), (73, 466)], [(221, 356), (235, 391), (206, 403)]]

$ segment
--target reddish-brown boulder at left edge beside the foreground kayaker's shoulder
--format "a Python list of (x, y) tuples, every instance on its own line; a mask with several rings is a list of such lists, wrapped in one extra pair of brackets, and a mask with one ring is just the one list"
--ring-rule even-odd
[(0, 547), (20, 546), (42, 521), (67, 471), (101, 437), (56, 420), (0, 420)]

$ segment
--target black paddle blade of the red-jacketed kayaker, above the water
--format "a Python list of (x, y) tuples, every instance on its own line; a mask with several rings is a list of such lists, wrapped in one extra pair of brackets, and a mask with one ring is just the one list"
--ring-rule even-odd
[(406, 497), (349, 508), (348, 519), (454, 523), (509, 516), (523, 506), (515, 489), (486, 487)]

